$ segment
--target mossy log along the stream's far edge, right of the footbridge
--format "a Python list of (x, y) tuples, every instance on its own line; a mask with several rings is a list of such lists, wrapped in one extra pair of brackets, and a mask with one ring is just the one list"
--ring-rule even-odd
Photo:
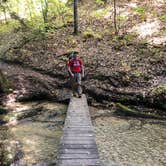
[(140, 112), (136, 109), (131, 109), (125, 105), (122, 105), (121, 103), (116, 104), (117, 112), (121, 113), (125, 116), (134, 116), (134, 117), (141, 117), (141, 118), (154, 118), (154, 119), (166, 119), (166, 117), (156, 115), (154, 113), (145, 113)]

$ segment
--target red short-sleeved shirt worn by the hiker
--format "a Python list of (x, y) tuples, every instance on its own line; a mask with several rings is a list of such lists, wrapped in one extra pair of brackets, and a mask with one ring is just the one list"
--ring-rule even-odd
[(72, 72), (81, 72), (82, 65), (83, 63), (80, 59), (71, 59), (68, 62), (68, 66), (70, 67)]

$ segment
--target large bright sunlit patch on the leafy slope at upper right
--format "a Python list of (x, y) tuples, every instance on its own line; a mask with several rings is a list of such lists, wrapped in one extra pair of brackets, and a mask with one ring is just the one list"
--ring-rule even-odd
[(139, 38), (146, 38), (152, 36), (154, 33), (159, 32), (160, 22), (155, 20), (153, 22), (147, 21), (134, 26), (130, 32), (136, 32)]

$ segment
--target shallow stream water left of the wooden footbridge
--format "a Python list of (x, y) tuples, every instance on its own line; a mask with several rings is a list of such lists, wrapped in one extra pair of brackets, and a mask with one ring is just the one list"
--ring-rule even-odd
[[(12, 163), (14, 158), (23, 160), (28, 166), (42, 162), (56, 163), (66, 106), (50, 102), (33, 102), (15, 103), (13, 108), (13, 116), (9, 116), (10, 129), (3, 130), (3, 135), (10, 134), (6, 139), (1, 139), (5, 144), (6, 163)], [(40, 113), (20, 121), (16, 120), (21, 114), (22, 117), (27, 116), (28, 111), (30, 116), (34, 108), (40, 108)], [(5, 161), (3, 164), (5, 165)]]

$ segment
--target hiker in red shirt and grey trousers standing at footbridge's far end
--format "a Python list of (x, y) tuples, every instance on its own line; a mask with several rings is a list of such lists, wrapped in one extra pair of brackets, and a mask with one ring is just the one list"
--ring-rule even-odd
[(76, 51), (73, 53), (73, 57), (68, 61), (68, 71), (71, 78), (73, 95), (77, 96), (78, 93), (78, 97), (81, 97), (81, 78), (84, 77), (84, 66), (82, 60), (78, 58), (78, 52)]

